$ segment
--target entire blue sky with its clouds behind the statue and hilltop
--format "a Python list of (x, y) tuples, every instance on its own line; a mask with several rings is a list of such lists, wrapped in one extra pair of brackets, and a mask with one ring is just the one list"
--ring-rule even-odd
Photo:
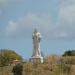
[(45, 56), (75, 49), (75, 0), (0, 0), (0, 49), (29, 59), (35, 28)]

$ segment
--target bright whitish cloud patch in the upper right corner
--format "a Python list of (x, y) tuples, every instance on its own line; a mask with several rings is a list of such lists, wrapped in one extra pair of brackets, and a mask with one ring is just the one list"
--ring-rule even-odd
[(75, 0), (66, 0), (61, 4), (59, 17), (65, 22), (75, 21)]

